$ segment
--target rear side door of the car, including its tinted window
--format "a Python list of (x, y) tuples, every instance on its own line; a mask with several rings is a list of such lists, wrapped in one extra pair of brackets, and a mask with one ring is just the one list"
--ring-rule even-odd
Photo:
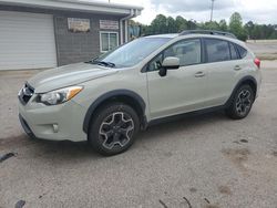
[(208, 100), (211, 106), (223, 105), (237, 82), (240, 70), (235, 45), (220, 39), (204, 39), (206, 70), (208, 71)]

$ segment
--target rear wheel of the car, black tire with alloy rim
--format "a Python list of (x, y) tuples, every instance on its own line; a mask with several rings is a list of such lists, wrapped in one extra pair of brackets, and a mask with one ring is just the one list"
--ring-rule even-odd
[(232, 103), (228, 108), (226, 108), (226, 114), (233, 119), (245, 118), (255, 101), (255, 95), (253, 89), (245, 84), (242, 85), (232, 98)]

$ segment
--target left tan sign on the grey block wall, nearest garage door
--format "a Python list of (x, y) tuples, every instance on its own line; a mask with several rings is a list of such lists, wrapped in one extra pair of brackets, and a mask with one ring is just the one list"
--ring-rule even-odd
[(68, 18), (69, 30), (72, 32), (89, 32), (90, 19)]

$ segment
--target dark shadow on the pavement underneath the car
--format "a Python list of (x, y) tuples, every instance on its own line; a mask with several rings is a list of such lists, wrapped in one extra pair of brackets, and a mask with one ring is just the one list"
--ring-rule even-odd
[[(218, 123), (226, 121), (226, 116), (222, 112), (214, 112), (208, 114), (202, 114), (196, 116), (188, 116), (179, 118), (176, 121), (156, 124), (150, 126), (146, 131), (143, 131), (137, 136), (136, 145), (134, 148), (131, 148), (125, 154), (136, 153), (135, 148), (140, 148), (140, 143), (147, 143), (147, 139), (158, 141), (161, 135), (163, 137), (172, 136), (173, 133), (185, 133), (189, 128), (202, 128), (206, 125), (217, 125)], [(20, 142), (19, 142), (20, 139)], [(105, 157), (95, 153), (88, 142), (70, 142), (70, 141), (44, 141), (37, 138), (29, 138), (25, 135), (20, 135), (17, 141), (17, 146), (10, 146), (10, 148), (22, 148), (27, 147), (28, 156), (32, 158), (50, 159), (57, 160), (59, 163), (68, 163), (72, 159), (103, 159)], [(16, 142), (16, 141), (14, 141)], [(10, 145), (11, 142), (9, 143)], [(16, 144), (13, 144), (16, 145)], [(132, 150), (134, 150), (132, 153)]]

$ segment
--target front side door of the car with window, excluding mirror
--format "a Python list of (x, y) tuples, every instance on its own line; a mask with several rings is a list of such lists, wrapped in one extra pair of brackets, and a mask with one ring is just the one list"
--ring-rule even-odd
[[(158, 118), (203, 108), (207, 98), (207, 74), (203, 67), (201, 39), (182, 40), (156, 55), (146, 69), (150, 114)], [(158, 74), (166, 56), (179, 59), (179, 69)]]

